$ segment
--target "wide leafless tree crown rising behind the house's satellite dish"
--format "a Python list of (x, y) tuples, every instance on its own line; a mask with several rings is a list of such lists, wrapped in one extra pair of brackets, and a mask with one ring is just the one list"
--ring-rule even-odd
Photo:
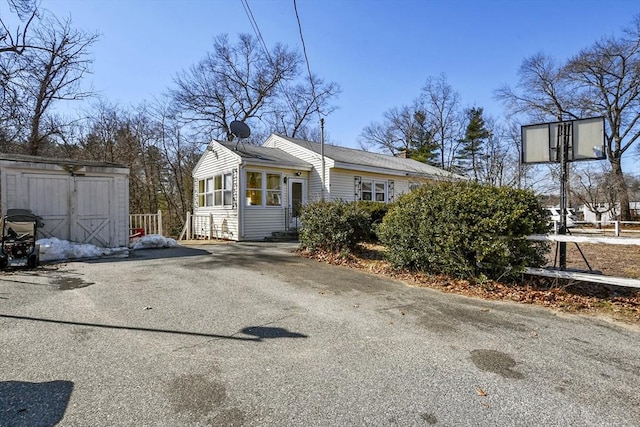
[(329, 101), (339, 92), (317, 76), (312, 90), (301, 79), (301, 61), (280, 44), (266, 52), (251, 35), (241, 34), (235, 45), (218, 36), (213, 52), (175, 78), (173, 112), (215, 138), (232, 140), (234, 120), (250, 121), (258, 133), (297, 136), (308, 131), (314, 114), (333, 111)]

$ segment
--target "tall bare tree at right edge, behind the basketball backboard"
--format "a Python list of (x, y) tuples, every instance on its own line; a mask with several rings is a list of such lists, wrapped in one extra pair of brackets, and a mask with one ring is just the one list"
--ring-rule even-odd
[(519, 71), (519, 91), (503, 87), (497, 97), (512, 113), (542, 120), (604, 116), (605, 150), (621, 205), (630, 218), (622, 156), (640, 138), (640, 15), (621, 37), (606, 37), (566, 63), (538, 54)]

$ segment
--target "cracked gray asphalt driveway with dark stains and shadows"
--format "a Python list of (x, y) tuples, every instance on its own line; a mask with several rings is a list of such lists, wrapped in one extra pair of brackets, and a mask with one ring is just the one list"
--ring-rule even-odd
[(0, 273), (0, 425), (640, 425), (638, 328), (292, 248)]

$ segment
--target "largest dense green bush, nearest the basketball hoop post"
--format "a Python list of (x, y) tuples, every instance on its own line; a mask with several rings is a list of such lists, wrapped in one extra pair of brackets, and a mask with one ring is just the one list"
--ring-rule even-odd
[(549, 224), (530, 191), (468, 182), (403, 195), (379, 227), (395, 267), (458, 278), (514, 278), (545, 263), (549, 245), (525, 239)]

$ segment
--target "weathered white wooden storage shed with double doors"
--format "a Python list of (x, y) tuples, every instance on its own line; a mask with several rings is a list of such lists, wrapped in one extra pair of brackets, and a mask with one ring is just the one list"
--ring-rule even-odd
[(101, 247), (129, 244), (129, 168), (88, 160), (0, 153), (2, 215), (30, 209), (38, 238)]

